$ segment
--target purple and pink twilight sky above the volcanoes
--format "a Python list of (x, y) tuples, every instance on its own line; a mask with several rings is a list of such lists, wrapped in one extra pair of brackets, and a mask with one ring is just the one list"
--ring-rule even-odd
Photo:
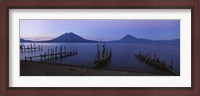
[(180, 20), (20, 20), (20, 38), (50, 40), (73, 32), (89, 40), (118, 40), (130, 34), (151, 40), (180, 39)]

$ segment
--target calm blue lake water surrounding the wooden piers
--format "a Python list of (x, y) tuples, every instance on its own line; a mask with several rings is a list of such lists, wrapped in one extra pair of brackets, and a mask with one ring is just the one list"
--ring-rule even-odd
[[(27, 45), (29, 43), (24, 43)], [(97, 54), (97, 43), (36, 43), (36, 45), (43, 45), (43, 51), (40, 52), (23, 52), (20, 53), (20, 59), (24, 60), (25, 56), (37, 56), (43, 52), (47, 52), (48, 49), (53, 49), (58, 46), (58, 52), (61, 45), (66, 45), (67, 51), (78, 49), (78, 55), (71, 57), (64, 57), (63, 59), (50, 60), (47, 62), (56, 62), (60, 64), (70, 64), (78, 66), (91, 66), (94, 63), (95, 56)], [(139, 62), (134, 54), (139, 53), (156, 53), (156, 57), (160, 60), (166, 60), (166, 63), (170, 65), (170, 61), (173, 60), (173, 68), (177, 73), (180, 73), (180, 46), (179, 45), (152, 45), (152, 44), (119, 44), (119, 43), (107, 43), (107, 47), (112, 48), (111, 61), (104, 66), (105, 69), (118, 69), (137, 72), (159, 72), (157, 68)], [(34, 58), (33, 61), (39, 61), (40, 58)]]

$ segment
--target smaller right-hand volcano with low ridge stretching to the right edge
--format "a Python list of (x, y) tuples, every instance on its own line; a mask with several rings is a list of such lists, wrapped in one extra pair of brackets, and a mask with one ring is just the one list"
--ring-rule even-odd
[(173, 44), (179, 45), (180, 39), (173, 39), (173, 40), (150, 40), (150, 39), (143, 39), (143, 38), (136, 38), (131, 35), (126, 35), (122, 39), (110, 41), (109, 43), (149, 43), (149, 44)]

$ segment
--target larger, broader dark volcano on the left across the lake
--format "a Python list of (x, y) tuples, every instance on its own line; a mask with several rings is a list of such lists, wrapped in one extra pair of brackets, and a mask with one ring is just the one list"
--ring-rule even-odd
[(97, 41), (84, 39), (72, 32), (64, 33), (52, 40), (46, 42), (71, 42), (71, 43), (95, 43)]

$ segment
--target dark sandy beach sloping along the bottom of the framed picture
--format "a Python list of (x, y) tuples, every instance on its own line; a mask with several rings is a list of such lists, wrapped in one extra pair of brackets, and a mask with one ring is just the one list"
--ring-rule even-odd
[(78, 65), (20, 60), (20, 76), (173, 76), (117, 69), (88, 68)]

